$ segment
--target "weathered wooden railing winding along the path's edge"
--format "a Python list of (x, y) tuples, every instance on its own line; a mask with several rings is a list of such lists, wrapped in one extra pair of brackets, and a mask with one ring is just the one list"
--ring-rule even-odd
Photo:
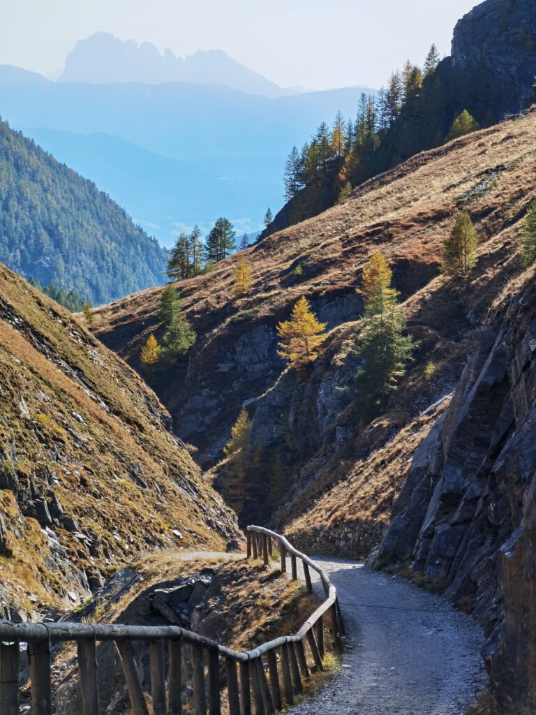
[[(51, 645), (74, 641), (78, 649), (82, 715), (99, 715), (99, 676), (96, 643), (114, 641), (121, 658), (126, 689), (134, 715), (148, 715), (142, 679), (134, 660), (132, 641), (149, 643), (150, 683), (154, 715), (181, 715), (183, 700), (183, 646), (189, 646), (196, 715), (219, 715), (222, 690), (227, 689), (229, 715), (272, 714), (293, 704), (311, 670), (322, 671), (325, 627), (334, 647), (340, 646), (342, 619), (337, 592), (311, 559), (299, 553), (284, 536), (259, 526), (247, 527), (247, 556), (269, 564), (272, 540), (279, 542), (281, 571), (290, 556), (292, 578), (297, 560), (303, 563), (305, 583), (312, 591), (310, 569), (320, 576), (326, 600), (292, 636), (282, 636), (258, 648), (238, 653), (178, 626), (126, 626), (100, 623), (11, 623), (0, 621), (0, 715), (19, 715), (20, 643), (28, 644), (31, 715), (54, 713)], [(324, 616), (328, 623), (324, 623)], [(167, 668), (164, 643), (167, 643)], [(305, 644), (307, 643), (308, 649)], [(307, 661), (309, 656), (309, 662)], [(312, 658), (312, 663), (310, 659)], [(57, 713), (61, 715), (61, 713)]]

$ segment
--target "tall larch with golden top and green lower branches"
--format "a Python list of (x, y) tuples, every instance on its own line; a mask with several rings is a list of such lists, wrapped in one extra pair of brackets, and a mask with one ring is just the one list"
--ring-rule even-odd
[[(374, 255), (377, 256), (377, 255)], [(378, 271), (378, 260), (369, 263), (369, 278), (364, 317), (356, 331), (352, 355), (360, 363), (354, 380), (359, 408), (367, 417), (384, 410), (387, 397), (397, 389), (415, 349), (405, 335), (405, 319), (397, 302), (398, 292), (391, 287), (391, 272)], [(387, 281), (387, 275), (389, 280)], [(373, 276), (376, 276), (375, 282)], [(374, 290), (373, 290), (374, 288)]]

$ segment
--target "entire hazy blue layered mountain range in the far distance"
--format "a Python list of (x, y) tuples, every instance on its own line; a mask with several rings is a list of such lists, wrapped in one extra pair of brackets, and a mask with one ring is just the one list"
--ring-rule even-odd
[[(188, 81), (158, 82), (174, 73)], [(0, 66), (1, 117), (167, 246), (221, 215), (239, 233), (261, 229), (267, 207), (283, 203), (292, 146), (339, 109), (353, 117), (363, 91), (298, 94), (220, 51), (182, 60), (104, 33), (76, 44), (59, 82)]]

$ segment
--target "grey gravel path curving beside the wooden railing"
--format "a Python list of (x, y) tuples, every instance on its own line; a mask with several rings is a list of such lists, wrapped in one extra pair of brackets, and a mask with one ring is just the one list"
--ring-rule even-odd
[(347, 630), (342, 673), (289, 712), (463, 715), (487, 680), (475, 621), (399, 576), (313, 558), (337, 587)]

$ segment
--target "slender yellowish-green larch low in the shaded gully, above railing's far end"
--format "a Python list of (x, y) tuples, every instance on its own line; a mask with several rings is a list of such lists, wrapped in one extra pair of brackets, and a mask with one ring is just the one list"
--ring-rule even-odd
[(246, 502), (246, 477), (249, 463), (251, 422), (246, 408), (240, 410), (238, 419), (231, 429), (231, 439), (224, 447), (227, 457), (223, 493), (225, 502), (237, 514), (244, 511)]

